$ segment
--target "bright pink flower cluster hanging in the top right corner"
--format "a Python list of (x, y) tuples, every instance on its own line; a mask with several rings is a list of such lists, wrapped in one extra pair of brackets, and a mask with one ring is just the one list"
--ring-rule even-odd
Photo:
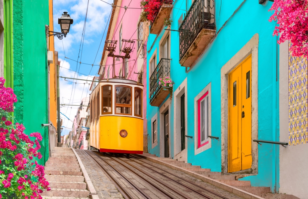
[(273, 35), (280, 33), (278, 44), (290, 40), (292, 56), (308, 57), (308, 8), (306, 0), (275, 0), (269, 21), (277, 21)]

